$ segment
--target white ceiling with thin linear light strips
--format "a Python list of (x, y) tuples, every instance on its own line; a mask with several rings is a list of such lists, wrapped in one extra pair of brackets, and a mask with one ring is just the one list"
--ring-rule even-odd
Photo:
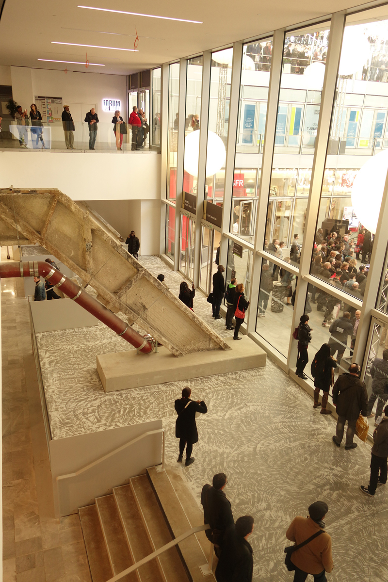
[[(203, 24), (175, 22), (144, 16), (120, 15), (77, 8), (96, 6), (150, 15), (200, 20)], [(5, 0), (0, 21), (0, 65), (85, 70), (85, 65), (41, 62), (38, 59), (86, 62), (88, 71), (129, 74), (204, 50), (223, 47), (331, 12), (351, 8), (357, 0)], [(386, 9), (385, 9), (386, 10)], [(138, 52), (52, 44), (52, 41), (134, 48)], [(109, 34), (108, 34), (109, 33)]]

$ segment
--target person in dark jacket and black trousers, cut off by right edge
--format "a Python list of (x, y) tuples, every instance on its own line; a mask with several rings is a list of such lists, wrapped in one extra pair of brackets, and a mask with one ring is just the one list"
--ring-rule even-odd
[[(388, 474), (388, 406), (384, 409), (384, 415), (380, 424), (373, 432), (373, 447), (371, 457), (371, 477), (369, 485), (360, 485), (360, 489), (366, 495), (373, 497), (378, 485), (385, 485)], [(380, 475), (379, 475), (380, 471)]]

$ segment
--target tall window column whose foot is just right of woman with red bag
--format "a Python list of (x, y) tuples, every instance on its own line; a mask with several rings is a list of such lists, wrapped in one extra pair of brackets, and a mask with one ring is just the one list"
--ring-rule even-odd
[[(284, 30), (275, 30), (272, 42), (272, 58), (268, 87), (267, 115), (265, 120), (265, 134), (263, 157), (261, 165), (260, 194), (257, 205), (257, 221), (255, 233), (255, 251), (264, 249), (265, 228), (269, 187), (272, 173), (273, 148), (275, 147), (277, 101), (282, 76), (282, 59), (284, 51)], [(254, 332), (257, 320), (257, 304), (259, 299), (259, 283), (262, 258), (256, 252), (252, 262), (250, 308), (248, 309), (247, 332)]]

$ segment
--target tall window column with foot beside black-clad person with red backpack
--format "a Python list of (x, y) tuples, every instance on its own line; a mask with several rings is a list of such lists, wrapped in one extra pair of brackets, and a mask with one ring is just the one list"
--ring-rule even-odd
[[(315, 140), (314, 162), (312, 164), (311, 183), (299, 268), (299, 272), (301, 274), (309, 273), (310, 271), (312, 249), (314, 247), (316, 218), (318, 217), (323, 173), (325, 172), (326, 150), (330, 136), (330, 122), (332, 119), (333, 102), (337, 86), (337, 72), (341, 55), (345, 18), (346, 16), (343, 12), (336, 12), (333, 14), (332, 22), (330, 23), (328, 59), (326, 61), (325, 67), (325, 79), (323, 80), (321, 109), (319, 111), (318, 131), (316, 133)], [(290, 338), (291, 332), (293, 332), (294, 328), (297, 327), (301, 315), (304, 314), (307, 286), (308, 282), (299, 276), (293, 312), (293, 321), (290, 329)], [(330, 287), (328, 285), (328, 290), (329, 289)], [(288, 369), (295, 367), (296, 359), (297, 342), (290, 341), (289, 354), (287, 359)]]

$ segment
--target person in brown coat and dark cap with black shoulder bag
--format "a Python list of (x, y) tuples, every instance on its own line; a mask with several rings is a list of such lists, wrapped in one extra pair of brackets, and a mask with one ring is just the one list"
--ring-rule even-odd
[(327, 582), (325, 573), (333, 570), (332, 538), (323, 531), (323, 520), (328, 511), (324, 501), (315, 501), (308, 508), (309, 517), (295, 517), (286, 531), (287, 540), (296, 542), (296, 545), (319, 532), (314, 540), (291, 554), (295, 566), (294, 582), (304, 582), (308, 574), (314, 576), (314, 582)]

